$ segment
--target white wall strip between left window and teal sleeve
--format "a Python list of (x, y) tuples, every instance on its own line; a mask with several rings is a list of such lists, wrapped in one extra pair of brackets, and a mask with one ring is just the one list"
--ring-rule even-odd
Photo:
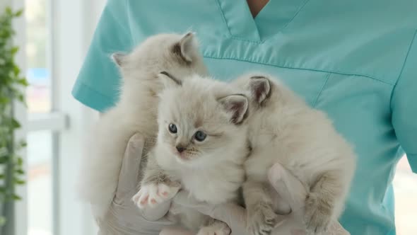
[[(52, 0), (51, 0), (52, 1)], [(69, 130), (59, 138), (59, 235), (96, 234), (88, 205), (76, 199), (82, 139), (98, 113), (78, 103), (71, 89), (86, 55), (104, 0), (54, 0), (54, 77), (59, 81), (57, 107), (69, 115)]]

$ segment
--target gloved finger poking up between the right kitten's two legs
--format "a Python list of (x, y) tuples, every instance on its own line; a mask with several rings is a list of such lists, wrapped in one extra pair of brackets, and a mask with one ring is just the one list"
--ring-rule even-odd
[(288, 202), (292, 210), (304, 207), (307, 190), (293, 173), (290, 173), (281, 164), (274, 164), (269, 169), (268, 177), (271, 185), (283, 200)]

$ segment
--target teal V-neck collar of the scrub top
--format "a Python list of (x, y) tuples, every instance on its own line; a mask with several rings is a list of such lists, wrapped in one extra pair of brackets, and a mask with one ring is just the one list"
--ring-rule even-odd
[(307, 0), (269, 0), (253, 18), (246, 0), (215, 0), (230, 35), (237, 40), (262, 42), (284, 28)]

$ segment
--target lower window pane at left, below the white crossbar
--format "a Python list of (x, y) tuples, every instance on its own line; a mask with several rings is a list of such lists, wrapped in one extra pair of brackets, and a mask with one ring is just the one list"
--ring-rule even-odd
[(28, 134), (28, 235), (52, 235), (52, 133)]

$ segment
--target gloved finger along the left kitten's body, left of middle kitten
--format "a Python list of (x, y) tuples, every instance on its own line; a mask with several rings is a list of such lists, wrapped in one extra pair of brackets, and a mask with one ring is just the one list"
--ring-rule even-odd
[(139, 167), (144, 145), (144, 138), (141, 134), (134, 134), (127, 143), (124, 151), (122, 168), (119, 173), (119, 183), (117, 185), (116, 198), (122, 198), (134, 190), (138, 184)]

